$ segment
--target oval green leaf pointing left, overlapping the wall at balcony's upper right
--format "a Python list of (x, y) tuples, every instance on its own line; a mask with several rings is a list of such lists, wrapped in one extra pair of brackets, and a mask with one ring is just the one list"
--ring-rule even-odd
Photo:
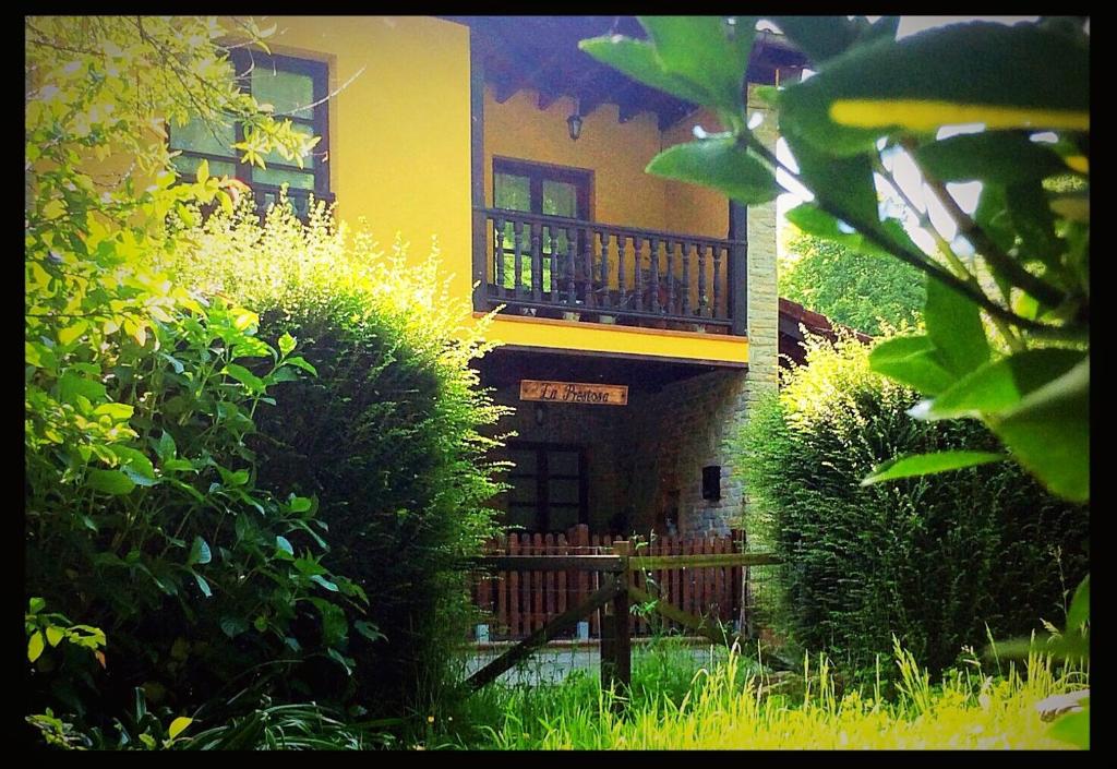
[(733, 137), (676, 144), (656, 155), (648, 173), (713, 187), (743, 203), (763, 203), (780, 193), (775, 175)]

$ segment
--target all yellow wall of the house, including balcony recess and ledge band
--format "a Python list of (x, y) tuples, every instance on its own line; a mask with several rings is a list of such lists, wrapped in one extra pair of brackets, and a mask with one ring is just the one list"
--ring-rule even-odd
[[(452, 289), (469, 295), (469, 30), (429, 17), (277, 20), (279, 31), (269, 42), (275, 53), (325, 60), (331, 91), (344, 86), (330, 103), (330, 179), (338, 217), (366, 218), (385, 246), (400, 231), (417, 260), (437, 236), (443, 269), (455, 276)], [(596, 221), (725, 237), (724, 198), (643, 171), (662, 148), (688, 141), (689, 125), (665, 136), (655, 115), (621, 124), (617, 106), (607, 104), (585, 117), (574, 142), (566, 126), (572, 108), (561, 98), (541, 111), (533, 92), (497, 104), (486, 88), (486, 205), (493, 202), (496, 154), (592, 169)], [(748, 350), (744, 339), (728, 335), (531, 317), (500, 317), (490, 336), (510, 344), (734, 363), (745, 362)]]

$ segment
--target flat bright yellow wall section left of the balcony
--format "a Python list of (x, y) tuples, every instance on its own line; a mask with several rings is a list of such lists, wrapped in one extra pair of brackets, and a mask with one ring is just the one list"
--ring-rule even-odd
[(437, 236), (452, 289), (468, 295), (469, 30), (414, 16), (276, 20), (275, 53), (325, 60), (331, 92), (344, 85), (330, 99), (338, 218), (366, 218), (385, 247), (399, 231), (417, 262)]

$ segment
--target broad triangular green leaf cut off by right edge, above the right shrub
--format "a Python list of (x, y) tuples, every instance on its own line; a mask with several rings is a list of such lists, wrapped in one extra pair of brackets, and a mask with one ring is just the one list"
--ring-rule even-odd
[(987, 424), (1048, 488), (1072, 502), (1089, 501), (1089, 358)]

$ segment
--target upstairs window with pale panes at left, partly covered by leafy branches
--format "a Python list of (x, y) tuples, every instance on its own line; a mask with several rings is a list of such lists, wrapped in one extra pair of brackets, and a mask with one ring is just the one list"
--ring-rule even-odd
[(239, 124), (214, 127), (192, 120), (182, 127), (172, 127), (171, 149), (182, 154), (174, 164), (183, 175), (192, 175), (202, 160), (209, 161), (214, 175), (229, 175), (249, 184), (262, 210), (278, 198), (279, 188), (288, 186), (288, 197), (300, 217), (306, 215), (308, 194), (332, 200), (330, 194), (327, 105), (327, 69), (322, 61), (268, 56), (257, 51), (235, 49), (231, 54), (241, 87), (260, 104), (270, 104), (277, 118), (289, 120), (294, 130), (321, 136), (303, 168), (287, 161), (278, 152), (264, 155), (267, 168), (241, 163), (232, 145), (244, 139)]

